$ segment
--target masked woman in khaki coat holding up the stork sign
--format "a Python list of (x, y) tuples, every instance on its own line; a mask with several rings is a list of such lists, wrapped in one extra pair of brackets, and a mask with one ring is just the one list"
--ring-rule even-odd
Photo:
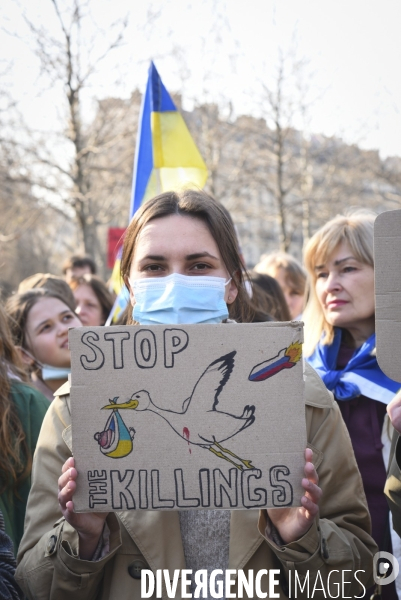
[[(192, 309), (185, 322), (246, 322), (242, 267), (232, 224), (212, 198), (187, 190), (149, 200), (132, 219), (124, 242), (121, 269), (134, 307), (131, 324), (182, 322), (183, 308)], [(136, 299), (138, 287), (146, 288), (154, 278), (166, 284), (155, 299), (157, 306), (146, 294)], [(209, 285), (210, 298), (203, 305), (201, 278)], [(185, 296), (166, 294), (167, 286), (174, 292), (180, 284), (187, 287)], [(224, 326), (238, 327), (241, 335), (240, 325)], [(225, 510), (105, 514), (74, 513), (77, 471), (71, 456), (69, 396), (58, 397), (35, 455), (35, 482), (19, 554), (16, 577), (28, 598), (139, 600), (141, 568), (169, 569), (172, 578), (173, 570), (185, 568), (185, 563), (193, 570), (244, 569), (247, 576), (252, 569), (255, 577), (260, 569), (279, 568), (280, 597), (288, 594), (290, 569), (297, 569), (302, 580), (307, 575), (315, 580), (318, 571), (327, 580), (331, 572), (332, 581), (337, 581), (336, 573), (340, 581), (341, 569), (361, 569), (358, 577), (366, 585), (375, 545), (360, 475), (337, 405), (312, 369), (306, 371), (306, 399), (313, 452), (305, 452), (301, 507), (231, 515)], [(261, 585), (267, 592), (267, 577)], [(359, 595), (361, 587), (354, 579), (344, 589), (351, 596)], [(326, 596), (322, 592), (314, 597)]]

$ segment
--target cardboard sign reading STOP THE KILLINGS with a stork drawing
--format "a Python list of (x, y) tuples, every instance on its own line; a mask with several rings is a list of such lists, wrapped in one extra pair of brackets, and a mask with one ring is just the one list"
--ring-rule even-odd
[(303, 324), (70, 331), (75, 510), (299, 506)]

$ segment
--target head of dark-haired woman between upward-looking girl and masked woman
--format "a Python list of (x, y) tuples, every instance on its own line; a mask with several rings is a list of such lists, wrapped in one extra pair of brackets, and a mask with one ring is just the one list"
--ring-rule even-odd
[(75, 312), (82, 325), (104, 325), (113, 306), (114, 298), (106, 284), (96, 275), (82, 275), (70, 279), (77, 307)]

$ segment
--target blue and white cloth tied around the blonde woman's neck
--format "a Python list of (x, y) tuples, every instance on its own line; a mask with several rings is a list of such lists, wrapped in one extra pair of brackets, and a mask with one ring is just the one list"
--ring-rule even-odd
[(400, 384), (387, 377), (377, 363), (376, 335), (371, 335), (355, 351), (343, 369), (336, 370), (341, 333), (341, 329), (335, 328), (333, 343), (329, 346), (319, 342), (315, 352), (306, 360), (318, 372), (336, 400), (352, 400), (363, 395), (388, 404), (400, 389)]

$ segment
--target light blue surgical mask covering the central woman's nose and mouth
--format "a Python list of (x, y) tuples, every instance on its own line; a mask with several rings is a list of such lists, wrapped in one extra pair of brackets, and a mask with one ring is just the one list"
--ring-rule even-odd
[(180, 275), (130, 281), (135, 296), (132, 316), (141, 325), (221, 323), (228, 317), (223, 277)]

